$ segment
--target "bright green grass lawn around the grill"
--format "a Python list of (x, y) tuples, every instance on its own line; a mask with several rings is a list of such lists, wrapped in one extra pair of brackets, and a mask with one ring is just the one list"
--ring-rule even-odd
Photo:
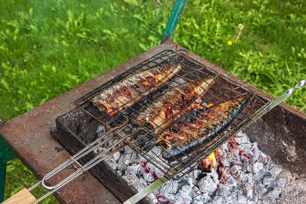
[[(7, 121), (158, 45), (173, 4), (2, 0), (0, 114)], [(306, 2), (189, 1), (174, 41), (279, 96), (306, 79)], [(285, 103), (305, 113), (306, 89)], [(35, 182), (19, 160), (9, 162), (6, 198)]]

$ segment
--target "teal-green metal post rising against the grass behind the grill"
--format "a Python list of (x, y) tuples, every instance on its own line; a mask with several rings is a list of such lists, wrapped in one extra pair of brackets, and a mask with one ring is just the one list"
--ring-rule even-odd
[(177, 23), (179, 23), (180, 21), (186, 3), (187, 0), (176, 0), (170, 18), (164, 30), (161, 43), (164, 43), (167, 39), (171, 39), (173, 37)]

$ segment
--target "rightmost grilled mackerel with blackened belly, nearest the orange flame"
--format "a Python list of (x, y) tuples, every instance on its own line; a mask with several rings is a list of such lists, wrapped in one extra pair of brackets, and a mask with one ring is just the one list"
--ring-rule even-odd
[(209, 144), (218, 134), (227, 130), (247, 104), (248, 99), (239, 98), (209, 108), (198, 106), (173, 121), (155, 144), (165, 148), (162, 154), (164, 159), (170, 162), (178, 160), (200, 146)]

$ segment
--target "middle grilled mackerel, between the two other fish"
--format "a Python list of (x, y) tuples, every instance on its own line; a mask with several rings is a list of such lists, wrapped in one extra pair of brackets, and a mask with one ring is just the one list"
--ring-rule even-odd
[(139, 124), (154, 130), (159, 134), (174, 117), (180, 117), (180, 111), (186, 106), (186, 110), (194, 108), (200, 103), (199, 95), (206, 93), (206, 90), (214, 83), (213, 79), (199, 79), (181, 84), (161, 95), (154, 103), (141, 112), (136, 120)]

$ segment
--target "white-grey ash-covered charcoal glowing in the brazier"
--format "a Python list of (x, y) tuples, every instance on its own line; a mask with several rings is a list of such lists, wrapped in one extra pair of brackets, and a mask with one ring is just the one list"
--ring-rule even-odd
[[(99, 128), (103, 131), (103, 128)], [(105, 149), (99, 148), (97, 152), (102, 150)], [(152, 148), (147, 154), (166, 168), (176, 164), (164, 160), (159, 147)], [(281, 200), (287, 199), (283, 198), (282, 193), (292, 182), (291, 173), (268, 160), (258, 149), (258, 144), (251, 143), (245, 133), (239, 132), (221, 145), (215, 151), (215, 157), (217, 167), (211, 169), (210, 173), (202, 171), (198, 166), (180, 181), (170, 180), (165, 183), (149, 194), (148, 200), (154, 204), (261, 204), (282, 203)], [(125, 146), (107, 160), (138, 191), (164, 176), (152, 163), (164, 171), (167, 169), (156, 161), (148, 161), (147, 157), (142, 157), (130, 146)], [(290, 194), (293, 190), (288, 189), (286, 192)]]

